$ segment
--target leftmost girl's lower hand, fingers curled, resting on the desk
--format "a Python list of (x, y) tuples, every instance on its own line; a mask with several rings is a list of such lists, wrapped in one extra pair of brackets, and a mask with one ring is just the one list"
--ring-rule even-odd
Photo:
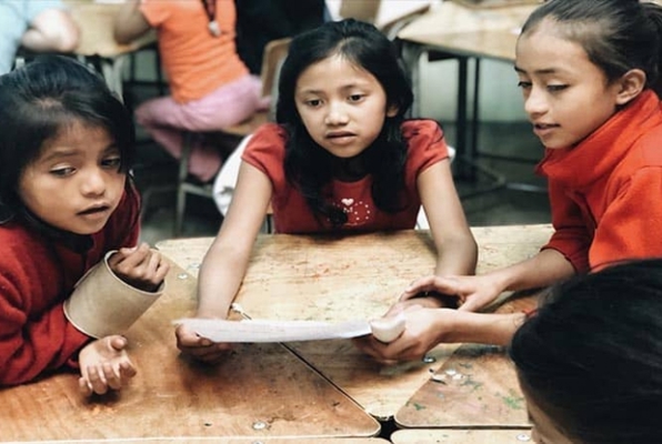
[(81, 377), (78, 386), (83, 396), (102, 395), (108, 390), (120, 390), (136, 375), (136, 367), (124, 347), (127, 339), (106, 336), (86, 345), (79, 354)]

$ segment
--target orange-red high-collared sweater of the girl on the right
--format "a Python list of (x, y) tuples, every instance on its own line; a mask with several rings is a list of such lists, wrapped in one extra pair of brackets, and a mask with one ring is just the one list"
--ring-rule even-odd
[[(589, 111), (586, 111), (589, 112)], [(554, 234), (578, 272), (662, 256), (662, 109), (646, 90), (576, 147), (546, 150)]]

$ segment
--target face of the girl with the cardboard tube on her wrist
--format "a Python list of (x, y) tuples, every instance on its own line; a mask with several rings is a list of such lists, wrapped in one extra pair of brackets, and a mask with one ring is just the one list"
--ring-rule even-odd
[(19, 196), (43, 222), (77, 234), (100, 231), (124, 191), (120, 151), (99, 127), (74, 122), (43, 143), (19, 179)]

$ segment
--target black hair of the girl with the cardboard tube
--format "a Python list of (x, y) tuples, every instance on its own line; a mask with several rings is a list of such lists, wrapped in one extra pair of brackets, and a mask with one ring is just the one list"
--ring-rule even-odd
[[(1, 75), (0, 103), (0, 223), (24, 212), (19, 180), (44, 142), (76, 122), (107, 130), (120, 151), (120, 171), (129, 172), (136, 157), (131, 114), (100, 75), (74, 59), (40, 56)], [(130, 178), (127, 189), (134, 193)]]

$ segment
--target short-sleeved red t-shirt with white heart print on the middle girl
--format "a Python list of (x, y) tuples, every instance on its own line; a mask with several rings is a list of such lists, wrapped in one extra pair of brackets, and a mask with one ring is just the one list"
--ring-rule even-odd
[(269, 176), (273, 185), (271, 205), (273, 222), (279, 233), (315, 233), (329, 231), (385, 231), (413, 229), (421, 206), (417, 179), (428, 167), (449, 157), (443, 133), (431, 120), (412, 120), (402, 124), (408, 141), (405, 192), (408, 206), (397, 213), (379, 210), (371, 195), (372, 176), (355, 182), (332, 181), (332, 205), (348, 214), (348, 222), (340, 229), (330, 221), (320, 223), (305, 199), (293, 188), (283, 168), (285, 131), (277, 124), (267, 124), (251, 138), (242, 159)]

